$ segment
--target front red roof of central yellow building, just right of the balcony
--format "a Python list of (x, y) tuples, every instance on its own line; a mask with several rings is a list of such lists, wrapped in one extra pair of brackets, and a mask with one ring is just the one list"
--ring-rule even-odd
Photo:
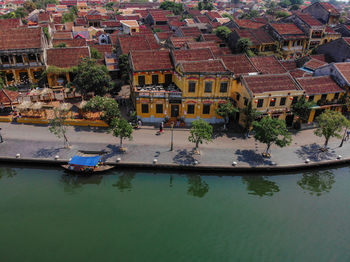
[(229, 73), (221, 59), (182, 62), (184, 73)]

